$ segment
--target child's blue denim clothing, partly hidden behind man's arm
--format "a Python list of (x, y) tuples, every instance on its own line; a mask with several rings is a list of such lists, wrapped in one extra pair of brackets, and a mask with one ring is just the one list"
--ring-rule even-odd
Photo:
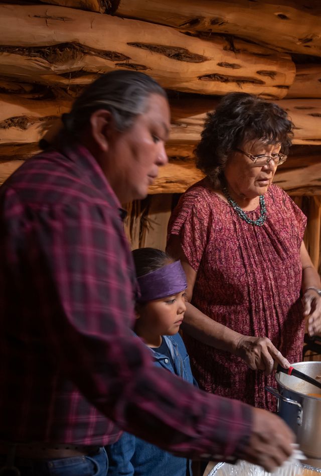
[[(164, 335), (163, 339), (170, 350), (174, 368), (167, 355), (150, 348), (155, 365), (197, 386), (182, 337), (179, 334)], [(116, 443), (106, 447), (106, 451), (109, 461), (108, 476), (192, 475), (189, 459), (174, 456), (129, 433), (123, 433)]]

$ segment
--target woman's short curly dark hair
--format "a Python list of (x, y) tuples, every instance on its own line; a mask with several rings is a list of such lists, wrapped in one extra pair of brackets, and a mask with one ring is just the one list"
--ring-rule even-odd
[(216, 110), (207, 114), (202, 139), (195, 149), (197, 168), (219, 188), (233, 150), (246, 141), (261, 139), (266, 144), (281, 144), (281, 152), (287, 154), (293, 127), (286, 111), (277, 104), (245, 92), (226, 94)]

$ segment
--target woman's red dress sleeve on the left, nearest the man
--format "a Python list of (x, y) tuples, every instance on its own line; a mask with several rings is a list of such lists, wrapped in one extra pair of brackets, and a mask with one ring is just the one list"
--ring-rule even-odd
[(180, 236), (184, 254), (194, 271), (198, 271), (207, 244), (211, 210), (202, 191), (185, 192), (172, 213), (168, 226), (171, 235)]

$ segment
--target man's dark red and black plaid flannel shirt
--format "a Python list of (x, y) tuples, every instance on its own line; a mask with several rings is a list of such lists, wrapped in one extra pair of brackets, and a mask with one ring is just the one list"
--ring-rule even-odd
[(242, 456), (251, 408), (152, 365), (131, 328), (120, 204), (82, 146), (0, 188), (0, 439), (108, 444), (119, 428), (188, 456)]

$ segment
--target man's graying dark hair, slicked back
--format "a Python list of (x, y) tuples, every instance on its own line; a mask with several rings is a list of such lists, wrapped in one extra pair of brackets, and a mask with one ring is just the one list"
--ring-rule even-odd
[(101, 75), (75, 100), (70, 113), (62, 115), (66, 132), (77, 135), (97, 109), (111, 112), (119, 132), (129, 129), (135, 117), (146, 110), (146, 99), (165, 90), (150, 76), (138, 71), (116, 70)]

